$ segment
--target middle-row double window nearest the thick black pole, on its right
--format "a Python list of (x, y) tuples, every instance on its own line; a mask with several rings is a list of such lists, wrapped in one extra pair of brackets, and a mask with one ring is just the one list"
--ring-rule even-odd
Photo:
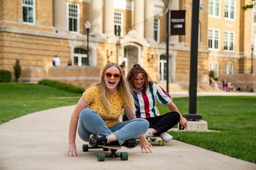
[(220, 31), (209, 29), (208, 30), (208, 47), (210, 50), (219, 50)]

